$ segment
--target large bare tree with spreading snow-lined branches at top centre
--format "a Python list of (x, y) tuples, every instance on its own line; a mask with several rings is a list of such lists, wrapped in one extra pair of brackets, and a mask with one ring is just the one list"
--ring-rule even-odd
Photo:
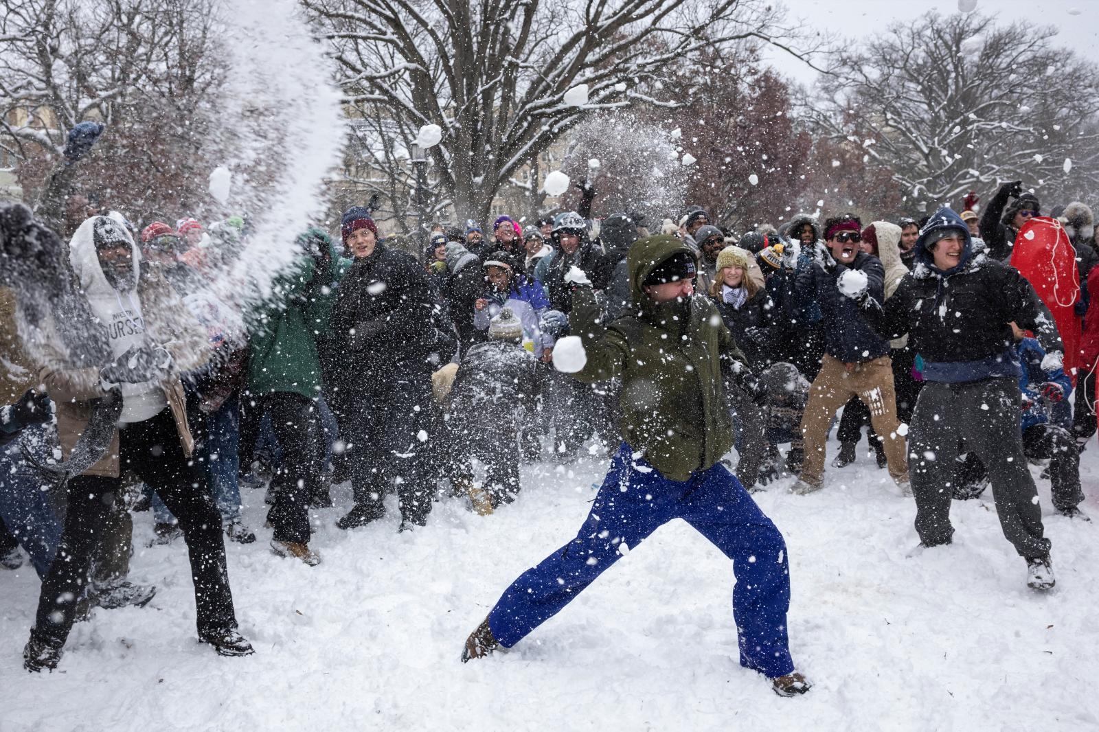
[[(671, 60), (791, 29), (766, 0), (302, 0), (332, 42), (348, 102), (408, 148), (424, 124), (436, 208), (484, 220), (500, 187), (595, 110), (677, 106), (653, 84)], [(587, 103), (566, 102), (587, 85)], [(371, 112), (380, 107), (380, 112)], [(377, 145), (375, 145), (377, 147)], [(407, 153), (379, 165), (406, 179)], [(395, 165), (396, 163), (396, 165)]]

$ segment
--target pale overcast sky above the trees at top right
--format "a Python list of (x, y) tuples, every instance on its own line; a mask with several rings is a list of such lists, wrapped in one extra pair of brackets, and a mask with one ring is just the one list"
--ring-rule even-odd
[[(929, 10), (958, 12), (958, 0), (784, 0), (784, 4), (791, 20), (854, 40), (884, 33), (895, 21), (910, 21)], [(1055, 43), (1099, 60), (1099, 0), (978, 0), (977, 11), (1006, 22), (1053, 25), (1058, 29)], [(801, 84), (811, 85), (817, 77), (817, 71), (784, 52), (773, 49), (767, 57)]]

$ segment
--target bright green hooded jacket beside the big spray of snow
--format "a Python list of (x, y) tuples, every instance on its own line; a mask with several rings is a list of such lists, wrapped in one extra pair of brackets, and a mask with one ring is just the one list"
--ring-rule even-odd
[[(315, 399), (321, 393), (317, 341), (329, 335), (336, 285), (351, 263), (324, 232), (311, 229), (309, 235), (328, 247), (325, 264), (300, 257), (275, 278), (271, 296), (249, 319), (248, 390), (254, 395), (289, 391)], [(319, 266), (324, 271), (318, 271)]]

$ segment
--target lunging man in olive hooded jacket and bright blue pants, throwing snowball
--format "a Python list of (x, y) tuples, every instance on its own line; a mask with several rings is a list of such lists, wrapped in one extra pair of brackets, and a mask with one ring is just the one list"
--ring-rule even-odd
[(709, 298), (693, 297), (695, 255), (675, 236), (639, 240), (626, 255), (632, 312), (604, 322), (588, 277), (573, 289), (569, 328), (554, 365), (582, 382), (622, 379), (623, 442), (576, 537), (523, 573), (467, 639), (463, 661), (510, 648), (560, 611), (656, 529), (684, 519), (733, 559), (733, 617), (742, 666), (781, 696), (810, 685), (795, 670), (782, 535), (721, 457), (733, 445), (724, 374), (763, 388)]

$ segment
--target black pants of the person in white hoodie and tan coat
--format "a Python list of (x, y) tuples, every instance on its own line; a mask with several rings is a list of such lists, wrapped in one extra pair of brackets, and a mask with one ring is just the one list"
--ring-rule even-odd
[[(202, 472), (184, 455), (171, 411), (119, 430), (122, 469), (133, 470), (156, 490), (179, 519), (195, 581), (199, 635), (236, 628), (229, 589), (221, 517)], [(121, 480), (78, 476), (68, 484), (68, 509), (57, 557), (42, 581), (35, 634), (62, 645), (73, 628), (76, 600), (88, 581), (92, 550), (116, 498)]]

